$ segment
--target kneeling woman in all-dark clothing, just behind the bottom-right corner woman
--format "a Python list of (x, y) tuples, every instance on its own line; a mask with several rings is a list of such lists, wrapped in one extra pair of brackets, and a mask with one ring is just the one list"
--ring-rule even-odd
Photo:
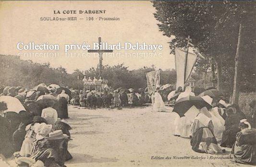
[(225, 130), (223, 131), (222, 134), (222, 139), (221, 139), (221, 147), (228, 147), (232, 148), (232, 145), (236, 141), (236, 133), (240, 131), (239, 129), (239, 123), (241, 119), (244, 119), (244, 117), (238, 113), (235, 112), (234, 108), (229, 108), (226, 111), (227, 118), (225, 120)]

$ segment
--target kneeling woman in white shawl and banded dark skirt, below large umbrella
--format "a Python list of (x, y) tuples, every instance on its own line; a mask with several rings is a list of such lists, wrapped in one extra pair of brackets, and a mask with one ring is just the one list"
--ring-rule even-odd
[(190, 144), (192, 150), (198, 153), (218, 154), (223, 153), (213, 135), (213, 124), (211, 119), (203, 113), (199, 113), (191, 126), (192, 137)]

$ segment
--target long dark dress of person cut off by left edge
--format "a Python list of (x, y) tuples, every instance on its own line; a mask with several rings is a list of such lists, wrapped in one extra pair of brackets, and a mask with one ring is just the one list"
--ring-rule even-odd
[(5, 157), (10, 157), (13, 153), (12, 142), (10, 142), (11, 134), (9, 133), (9, 128), (9, 120), (0, 116), (0, 154), (4, 155)]

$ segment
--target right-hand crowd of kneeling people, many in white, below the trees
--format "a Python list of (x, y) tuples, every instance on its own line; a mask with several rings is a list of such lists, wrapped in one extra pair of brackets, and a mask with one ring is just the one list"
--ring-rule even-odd
[[(165, 108), (162, 108), (163, 102), (159, 102), (162, 99), (158, 97), (158, 89), (154, 96), (155, 103), (158, 104), (158, 110), (155, 110), (163, 111)], [(172, 98), (175, 105), (185, 101), (185, 98), (190, 97), (194, 100), (183, 103), (184, 107), (185, 105), (191, 107), (182, 117), (175, 111), (177, 117), (174, 123), (174, 136), (189, 138), (195, 152), (222, 154), (226, 150), (221, 147), (232, 148), (233, 161), (256, 165), (256, 101), (250, 103), (253, 114), (246, 118), (238, 105), (229, 104), (223, 97), (201, 96), (200, 98), (210, 107), (195, 107), (195, 101), (199, 97), (191, 96), (195, 97), (195, 94), (189, 86), (184, 92), (180, 87), (177, 91), (170, 93), (169, 99)]]

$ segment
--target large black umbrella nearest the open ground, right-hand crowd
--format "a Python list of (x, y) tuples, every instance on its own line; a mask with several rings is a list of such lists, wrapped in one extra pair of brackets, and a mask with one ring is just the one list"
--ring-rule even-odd
[(207, 107), (209, 109), (212, 107), (202, 97), (190, 95), (190, 96), (179, 99), (175, 104), (173, 111), (178, 113), (180, 117), (184, 117), (184, 114), (192, 106), (195, 106), (198, 109), (201, 109), (203, 107)]

